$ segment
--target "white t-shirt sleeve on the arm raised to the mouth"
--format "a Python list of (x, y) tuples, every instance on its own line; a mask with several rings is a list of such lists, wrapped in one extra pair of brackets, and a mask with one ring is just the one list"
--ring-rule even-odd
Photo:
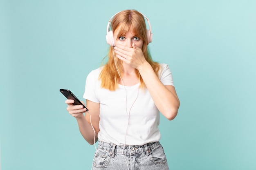
[(159, 72), (160, 74), (160, 81), (166, 86), (166, 85), (171, 85), (174, 86), (173, 84), (173, 75), (171, 73), (171, 69), (169, 68), (168, 64), (160, 64), (162, 67), (162, 71)]

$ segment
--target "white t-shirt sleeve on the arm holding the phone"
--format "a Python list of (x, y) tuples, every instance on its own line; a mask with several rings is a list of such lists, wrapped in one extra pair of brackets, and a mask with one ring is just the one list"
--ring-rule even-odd
[(96, 95), (97, 80), (98, 76), (95, 75), (95, 71), (91, 71), (86, 78), (85, 92), (83, 94), (83, 98), (95, 103), (99, 103)]

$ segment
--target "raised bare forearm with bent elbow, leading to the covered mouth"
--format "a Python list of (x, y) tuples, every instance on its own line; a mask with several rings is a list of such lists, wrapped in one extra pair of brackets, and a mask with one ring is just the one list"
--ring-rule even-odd
[(167, 119), (174, 119), (180, 106), (175, 88), (173, 86), (166, 88), (148, 62), (142, 64), (138, 70), (158, 110)]

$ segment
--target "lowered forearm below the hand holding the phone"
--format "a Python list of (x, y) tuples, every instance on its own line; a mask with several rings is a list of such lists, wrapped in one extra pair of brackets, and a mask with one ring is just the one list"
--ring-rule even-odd
[(91, 145), (94, 144), (94, 137), (95, 137), (95, 142), (98, 140), (96, 130), (92, 128), (92, 125), (85, 119), (84, 116), (81, 118), (76, 118), (76, 120), (79, 126), (79, 131), (81, 132), (81, 135), (83, 136), (83, 138), (89, 144)]

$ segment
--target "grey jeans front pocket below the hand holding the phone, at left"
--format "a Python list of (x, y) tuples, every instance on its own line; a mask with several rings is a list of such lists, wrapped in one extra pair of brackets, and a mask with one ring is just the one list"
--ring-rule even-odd
[(97, 168), (102, 168), (108, 165), (111, 155), (109, 151), (98, 149), (95, 153), (93, 165)]

